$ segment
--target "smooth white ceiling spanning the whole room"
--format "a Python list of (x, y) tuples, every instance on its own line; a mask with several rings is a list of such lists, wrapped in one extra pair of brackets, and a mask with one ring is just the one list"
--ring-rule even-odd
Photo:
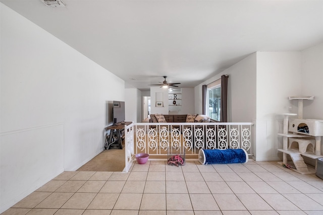
[[(195, 87), (255, 51), (323, 42), (323, 1), (0, 0), (125, 80)], [(135, 80), (131, 80), (135, 79)]]

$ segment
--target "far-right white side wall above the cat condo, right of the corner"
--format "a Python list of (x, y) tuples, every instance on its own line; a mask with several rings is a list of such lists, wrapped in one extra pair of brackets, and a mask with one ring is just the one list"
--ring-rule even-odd
[(303, 118), (323, 119), (323, 43), (301, 53), (301, 95), (314, 96), (314, 100), (303, 101)]

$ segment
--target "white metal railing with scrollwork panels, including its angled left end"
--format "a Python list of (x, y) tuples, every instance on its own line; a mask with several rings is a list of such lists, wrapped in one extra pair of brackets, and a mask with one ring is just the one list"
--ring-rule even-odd
[(133, 155), (162, 159), (169, 147), (182, 147), (196, 159), (200, 149), (245, 149), (252, 155), (252, 129), (253, 123), (132, 123), (125, 129), (125, 169)]

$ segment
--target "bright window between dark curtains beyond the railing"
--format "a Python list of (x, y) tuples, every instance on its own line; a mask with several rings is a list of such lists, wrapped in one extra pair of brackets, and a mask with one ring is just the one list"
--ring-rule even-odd
[(220, 121), (221, 112), (221, 79), (207, 85), (206, 115)]

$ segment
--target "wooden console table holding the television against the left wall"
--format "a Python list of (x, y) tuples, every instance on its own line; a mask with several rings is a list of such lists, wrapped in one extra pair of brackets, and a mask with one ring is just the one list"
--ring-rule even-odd
[(132, 122), (118, 122), (116, 124), (105, 127), (105, 131), (111, 130), (109, 136), (106, 136), (106, 144), (104, 148), (120, 149), (122, 150), (122, 139), (124, 138), (125, 126), (130, 125)]

